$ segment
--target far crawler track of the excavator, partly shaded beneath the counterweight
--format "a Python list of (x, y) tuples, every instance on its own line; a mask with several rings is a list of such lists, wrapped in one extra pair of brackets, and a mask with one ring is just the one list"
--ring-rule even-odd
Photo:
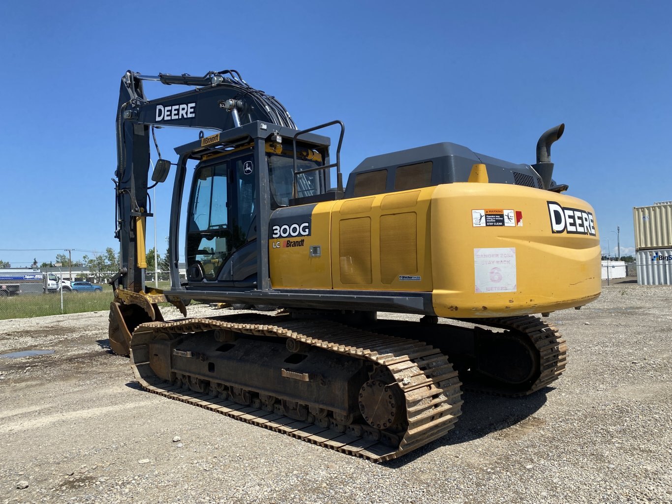
[(508, 329), (515, 337), (528, 341), (538, 352), (538, 376), (521, 390), (507, 389), (495, 384), (468, 384), (464, 390), (485, 394), (521, 397), (540, 390), (557, 380), (567, 365), (567, 344), (558, 329), (538, 317), (499, 317), (493, 319), (469, 319), (468, 322), (488, 327)]

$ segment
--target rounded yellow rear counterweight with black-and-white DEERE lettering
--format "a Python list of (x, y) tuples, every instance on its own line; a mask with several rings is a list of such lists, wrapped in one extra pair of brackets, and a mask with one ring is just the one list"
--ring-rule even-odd
[(562, 194), (497, 183), (437, 187), (433, 305), (441, 317), (501, 317), (599, 296), (595, 212)]

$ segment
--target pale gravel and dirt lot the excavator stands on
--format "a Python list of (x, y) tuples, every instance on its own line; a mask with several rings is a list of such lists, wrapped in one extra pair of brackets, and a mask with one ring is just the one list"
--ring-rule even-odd
[(455, 429), (384, 464), (139, 390), (106, 312), (0, 321), (0, 354), (54, 350), (0, 358), (0, 503), (672, 502), (672, 288), (603, 289), (551, 314), (554, 387), (465, 393)]

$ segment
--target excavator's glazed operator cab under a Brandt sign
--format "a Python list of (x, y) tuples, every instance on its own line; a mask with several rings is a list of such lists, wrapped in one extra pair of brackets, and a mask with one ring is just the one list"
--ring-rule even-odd
[[(239, 134), (235, 130), (227, 133)], [(198, 161), (185, 226), (187, 288), (255, 288), (259, 207), (266, 207), (268, 220), (269, 212), (278, 208), (343, 194), (342, 186), (331, 187), (334, 165), (329, 164), (329, 139), (312, 135), (312, 141), (302, 142), (296, 138), (300, 134), (292, 132), (295, 138), (284, 142), (274, 134), (271, 141), (259, 142), (260, 153), (255, 153), (255, 142), (240, 145), (222, 134), (202, 138), (195, 148), (192, 142), (175, 149), (181, 159)], [(171, 222), (171, 229), (179, 228), (177, 224)]]

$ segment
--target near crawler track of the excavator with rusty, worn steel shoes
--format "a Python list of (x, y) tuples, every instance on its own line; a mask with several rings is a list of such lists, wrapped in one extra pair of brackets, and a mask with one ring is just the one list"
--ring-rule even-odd
[[(330, 321), (278, 321), (278, 318), (262, 315), (242, 318), (225, 316), (144, 323), (138, 326), (131, 339), (134, 374), (140, 385), (149, 392), (373, 462), (391, 460), (442, 437), (452, 429), (462, 413), (458, 373), (453, 370), (446, 355), (431, 345), (413, 339), (382, 336)], [(278, 403), (272, 408), (262, 404), (259, 397), (263, 401), (263, 394), (248, 401), (247, 405), (240, 404), (231, 401), (226, 392), (224, 397), (220, 396), (218, 390), (222, 390), (221, 383), (206, 387), (201, 380), (189, 376), (181, 376), (173, 383), (164, 381), (151, 370), (149, 361), (136, 362), (134, 358), (134, 349), (138, 350), (153, 339), (222, 329), (238, 335), (292, 339), (296, 343), (290, 344), (310, 345), (371, 362), (378, 371), (362, 385), (359, 394), (362, 416), (367, 423), (351, 423), (351, 419), (348, 421), (337, 414), (311, 414), (303, 420), (296, 419), (284, 414), (286, 411)], [(143, 352), (138, 350), (136, 353), (140, 355)], [(394, 382), (386, 383), (379, 378), (389, 376), (381, 373), (381, 368), (391, 374)], [(286, 371), (283, 370), (283, 373)], [(191, 388), (187, 388), (189, 384)], [(223, 385), (227, 386), (226, 383)], [(380, 390), (370, 390), (376, 387)], [(381, 394), (382, 390), (384, 392)], [(255, 390), (241, 391), (248, 397), (254, 397), (256, 393)], [(378, 394), (373, 405), (372, 393)], [(394, 401), (399, 399), (403, 407), (395, 410)], [(310, 405), (304, 405), (304, 408), (308, 407)], [(401, 425), (401, 428), (386, 428), (391, 427), (386, 425), (386, 407), (388, 410), (405, 412), (403, 421), (393, 421), (394, 425)], [(387, 419), (388, 422), (390, 420)]]

